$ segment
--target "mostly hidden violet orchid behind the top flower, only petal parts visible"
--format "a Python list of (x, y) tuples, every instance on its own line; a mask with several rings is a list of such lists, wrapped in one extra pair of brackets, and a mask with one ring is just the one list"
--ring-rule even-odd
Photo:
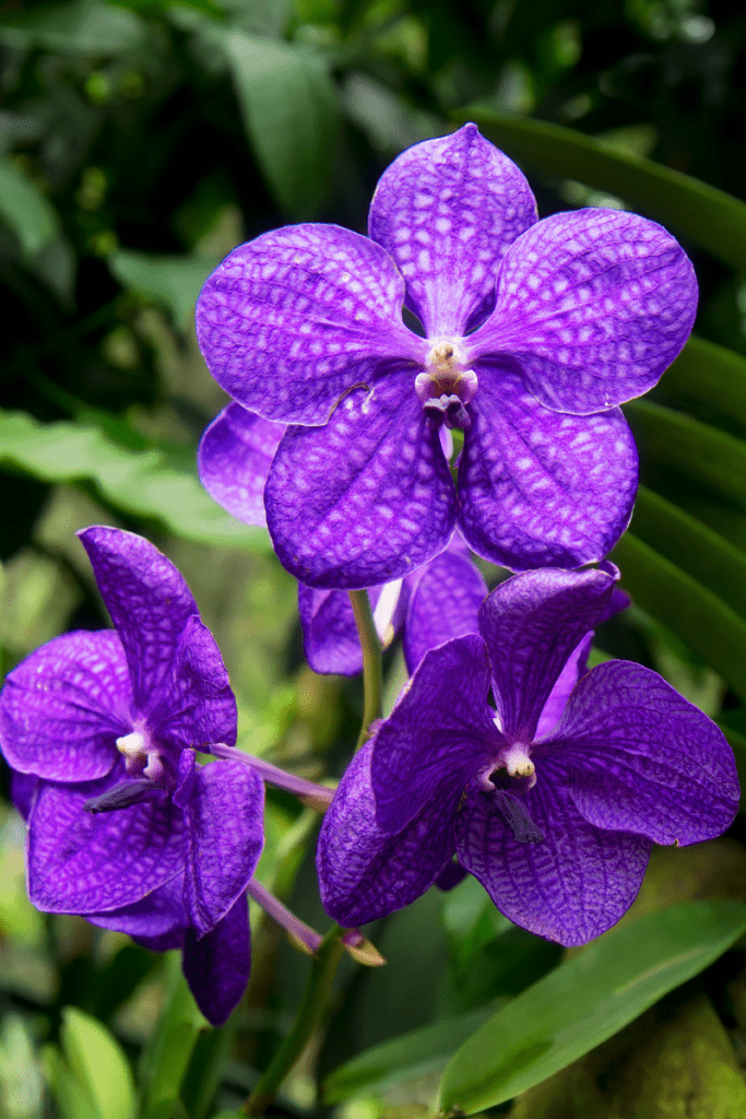
[[(202, 485), (224, 509), (248, 525), (266, 525), (264, 486), (285, 430), (285, 424), (228, 404), (200, 441), (197, 461)], [(488, 590), (456, 533), (444, 552), (412, 575), (368, 593), (384, 645), (403, 631), (412, 674), (428, 649), (476, 631), (476, 613)], [(362, 650), (347, 592), (301, 583), (298, 605), (303, 650), (314, 673), (361, 673)]]

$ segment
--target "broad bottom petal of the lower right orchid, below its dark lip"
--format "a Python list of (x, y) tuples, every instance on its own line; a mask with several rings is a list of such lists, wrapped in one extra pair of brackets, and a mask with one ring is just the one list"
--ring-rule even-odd
[(542, 759), (537, 777), (525, 803), (540, 843), (516, 839), (491, 798), (472, 786), (454, 825), (456, 853), (516, 924), (560, 944), (584, 944), (629, 910), (650, 840), (586, 822), (556, 762)]

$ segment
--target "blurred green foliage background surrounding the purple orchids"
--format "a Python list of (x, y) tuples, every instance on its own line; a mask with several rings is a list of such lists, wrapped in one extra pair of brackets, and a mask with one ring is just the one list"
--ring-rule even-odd
[[(313, 219), (365, 232), (387, 163), (471, 117), (523, 167), (540, 216), (630, 205), (668, 224), (695, 262), (700, 341), (652, 404), (629, 412), (646, 487), (620, 556), (635, 605), (606, 624), (596, 658), (658, 668), (743, 749), (746, 224), (730, 231), (729, 204), (706, 188), (672, 190), (668, 214), (668, 180), (657, 194), (643, 171), (642, 186), (630, 187), (624, 168), (651, 160), (746, 198), (745, 85), (746, 13), (703, 0), (4, 0), (3, 670), (59, 632), (108, 624), (74, 532), (120, 525), (153, 540), (189, 582), (230, 674), (240, 743), (304, 777), (339, 775), (357, 737), (360, 684), (305, 666), (294, 581), (266, 534), (233, 521), (197, 478), (197, 442), (226, 397), (199, 355), (193, 303), (217, 262), (266, 229)], [(550, 130), (559, 147), (545, 149), (531, 122), (601, 141), (593, 150), (611, 170), (589, 156), (584, 175), (567, 133)], [(390, 703), (403, 678), (396, 649), (387, 667)], [(310, 810), (271, 793), (259, 876), (323, 930), (315, 826)], [(742, 837), (737, 822), (729, 839), (696, 853), (660, 853), (641, 904), (743, 897)], [(238, 1107), (289, 1028), (308, 961), (257, 912), (248, 996), (229, 1027), (201, 1032), (168, 958), (29, 905), (22, 848), (6, 799), (0, 1117), (126, 1119), (132, 1070), (152, 1089), (145, 1115), (202, 1119)], [(469, 1013), (475, 1025), (485, 1004), (560, 957), (512, 928), (474, 882), (431, 891), (372, 935), (388, 966), (342, 968), (325, 1042), (287, 1084), (278, 1113), (328, 1113), (317, 1071), (426, 1023)], [(718, 1115), (746, 1115), (743, 963), (731, 952), (706, 972), (700, 1017), (687, 1026), (717, 1041), (698, 1075), (708, 1091), (727, 1084), (735, 1110)], [(187, 1037), (171, 1097), (153, 1087), (163, 1008)], [(635, 1053), (642, 1044), (627, 1038)], [(121, 1084), (114, 1103), (97, 1094), (86, 1052)], [(627, 1096), (650, 1096), (639, 1064)], [(387, 1087), (340, 1089), (340, 1099), (353, 1097), (341, 1113), (417, 1115), (436, 1083), (417, 1078), (432, 1071), (421, 1061)], [(593, 1096), (601, 1073), (573, 1075), (583, 1091), (554, 1084), (514, 1115), (593, 1117), (596, 1106), (611, 1115), (610, 1098), (602, 1106)]]

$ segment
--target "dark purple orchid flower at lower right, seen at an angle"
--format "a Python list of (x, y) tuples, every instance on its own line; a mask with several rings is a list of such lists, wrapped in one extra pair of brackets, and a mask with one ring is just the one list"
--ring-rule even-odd
[(511, 921), (580, 944), (632, 904), (652, 843), (728, 827), (738, 781), (718, 727), (640, 665), (583, 675), (614, 575), (516, 575), (481, 608), (481, 636), (426, 655), (324, 817), (334, 920), (363, 924), (450, 884), (456, 855)]

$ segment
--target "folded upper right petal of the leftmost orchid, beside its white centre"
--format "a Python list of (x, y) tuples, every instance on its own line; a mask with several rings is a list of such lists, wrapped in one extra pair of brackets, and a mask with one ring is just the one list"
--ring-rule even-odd
[(202, 750), (211, 742), (236, 742), (236, 699), (220, 650), (207, 626), (189, 618), (173, 651), (170, 679), (149, 709), (153, 737), (178, 750)]

